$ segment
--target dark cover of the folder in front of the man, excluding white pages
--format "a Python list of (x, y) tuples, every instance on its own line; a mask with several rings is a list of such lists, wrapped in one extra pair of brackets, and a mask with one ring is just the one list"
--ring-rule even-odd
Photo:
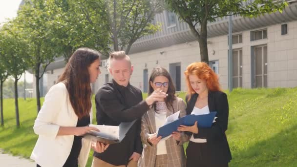
[[(109, 135), (108, 133), (98, 133), (96, 131), (91, 131), (84, 135), (85, 139), (91, 141), (98, 141), (104, 144), (116, 144), (120, 143), (126, 136), (127, 132), (131, 128), (131, 126), (135, 123), (135, 121), (128, 122), (128, 123), (121, 123), (119, 125), (119, 134), (118, 137), (115, 138), (114, 136)], [(100, 130), (100, 129), (99, 129)]]

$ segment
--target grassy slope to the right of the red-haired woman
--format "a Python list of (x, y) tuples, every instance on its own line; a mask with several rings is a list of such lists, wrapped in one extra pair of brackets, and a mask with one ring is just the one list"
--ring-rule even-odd
[(237, 89), (227, 136), (234, 167), (296, 167), (297, 88)]

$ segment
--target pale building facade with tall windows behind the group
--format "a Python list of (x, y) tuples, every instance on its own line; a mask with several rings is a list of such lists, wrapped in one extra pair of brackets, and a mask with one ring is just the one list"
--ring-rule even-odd
[[(290, 0), (283, 13), (233, 17), (233, 87), (297, 86), (296, 2)], [(176, 89), (186, 91), (183, 73), (190, 63), (200, 61), (199, 44), (188, 25), (171, 12), (157, 14), (154, 22), (161, 23), (161, 30), (137, 40), (128, 54), (134, 65), (130, 83), (147, 92), (150, 72), (162, 66), (170, 71)], [(228, 18), (218, 18), (208, 24), (208, 51), (210, 66), (223, 89), (228, 88), (228, 49)], [(102, 60), (94, 93), (111, 80), (105, 64)], [(61, 61), (48, 66), (47, 89), (55, 84), (63, 67)]]

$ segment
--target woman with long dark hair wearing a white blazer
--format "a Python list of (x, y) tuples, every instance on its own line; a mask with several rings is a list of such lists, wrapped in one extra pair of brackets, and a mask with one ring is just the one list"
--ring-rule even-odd
[(45, 95), (33, 126), (39, 138), (31, 159), (37, 167), (85, 167), (91, 145), (97, 152), (108, 147), (81, 137), (90, 130), (98, 131), (88, 125), (92, 121), (90, 84), (101, 73), (99, 65), (99, 52), (77, 49), (58, 83)]

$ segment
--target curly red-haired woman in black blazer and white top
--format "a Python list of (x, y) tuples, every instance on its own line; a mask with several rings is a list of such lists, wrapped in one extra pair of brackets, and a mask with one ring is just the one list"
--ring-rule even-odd
[(191, 136), (187, 147), (187, 167), (228, 167), (232, 159), (225, 131), (228, 126), (227, 95), (220, 89), (218, 77), (207, 63), (191, 63), (185, 71), (188, 94), (187, 115), (208, 114), (216, 111), (210, 128), (180, 126)]

